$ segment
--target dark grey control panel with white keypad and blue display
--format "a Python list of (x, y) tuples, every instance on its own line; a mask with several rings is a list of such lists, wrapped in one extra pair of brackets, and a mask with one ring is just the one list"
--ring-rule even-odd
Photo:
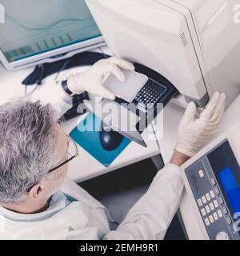
[(240, 212), (240, 168), (228, 140), (185, 172), (209, 238), (238, 240), (234, 214)]

